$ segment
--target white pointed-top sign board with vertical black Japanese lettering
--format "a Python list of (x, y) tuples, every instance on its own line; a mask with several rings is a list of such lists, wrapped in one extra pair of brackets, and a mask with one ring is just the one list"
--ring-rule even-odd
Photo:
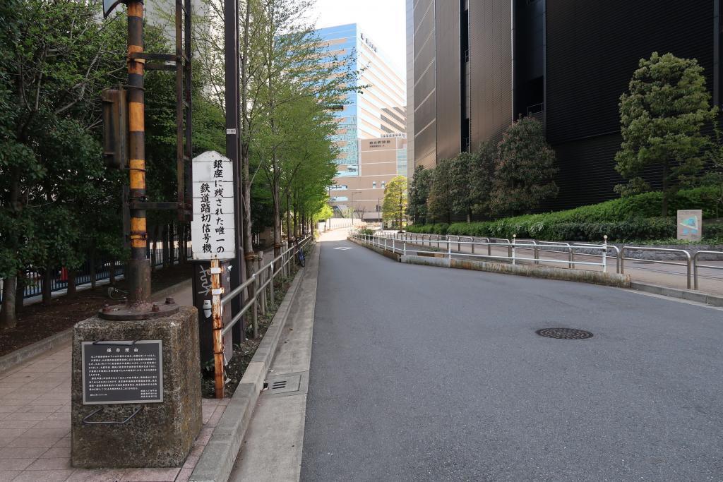
[(234, 168), (215, 151), (193, 158), (193, 259), (233, 259)]

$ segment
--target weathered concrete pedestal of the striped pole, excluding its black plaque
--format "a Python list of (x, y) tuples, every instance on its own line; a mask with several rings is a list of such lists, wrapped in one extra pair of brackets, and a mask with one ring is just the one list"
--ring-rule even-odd
[[(162, 340), (163, 402), (83, 405), (81, 343), (100, 340)], [(72, 465), (79, 468), (180, 467), (199, 433), (201, 379), (198, 315), (181, 306), (170, 317), (108, 321), (93, 317), (73, 330)], [(92, 421), (83, 418), (98, 408)]]

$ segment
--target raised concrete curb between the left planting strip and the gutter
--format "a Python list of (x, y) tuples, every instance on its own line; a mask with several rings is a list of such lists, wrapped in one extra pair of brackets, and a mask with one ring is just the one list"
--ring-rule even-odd
[(211, 439), (203, 449), (190, 481), (228, 481), (263, 388), (266, 373), (273, 361), (278, 340), (286, 324), (286, 319), (288, 319), (289, 311), (291, 311), (291, 301), (296, 296), (303, 274), (303, 269), (296, 272), (281, 306), (276, 311), (256, 353), (244, 372), (244, 376), (241, 377), (239, 387), (236, 388), (231, 402), (226, 406), (221, 420), (213, 430)]

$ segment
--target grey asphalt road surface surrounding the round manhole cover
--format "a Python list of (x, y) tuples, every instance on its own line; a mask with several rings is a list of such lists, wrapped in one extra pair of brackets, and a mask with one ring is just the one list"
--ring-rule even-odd
[(320, 246), (302, 481), (723, 480), (723, 311)]

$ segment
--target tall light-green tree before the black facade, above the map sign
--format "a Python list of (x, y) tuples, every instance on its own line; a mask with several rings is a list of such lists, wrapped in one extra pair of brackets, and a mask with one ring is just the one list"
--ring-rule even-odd
[(701, 148), (707, 139), (701, 128), (714, 119), (716, 108), (710, 106), (703, 67), (696, 59), (672, 53), (654, 52), (650, 59), (641, 59), (628, 90), (620, 96), (623, 144), (615, 155), (615, 169), (628, 184), (616, 186), (616, 191), (648, 191), (643, 171), (659, 166), (661, 214), (667, 216), (671, 195), (703, 167)]

